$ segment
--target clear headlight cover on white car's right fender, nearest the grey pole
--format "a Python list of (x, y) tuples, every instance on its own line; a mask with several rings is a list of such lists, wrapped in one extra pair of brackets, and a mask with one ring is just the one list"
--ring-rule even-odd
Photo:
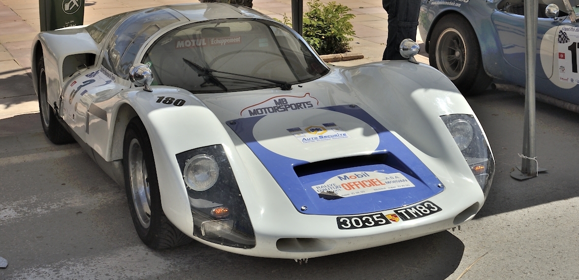
[(440, 118), (463, 153), (485, 197), (488, 196), (493, 182), (494, 159), (477, 120), (464, 114), (444, 115)]

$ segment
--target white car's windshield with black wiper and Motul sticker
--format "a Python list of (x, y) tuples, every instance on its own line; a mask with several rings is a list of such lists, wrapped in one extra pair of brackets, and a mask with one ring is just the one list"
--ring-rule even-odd
[(142, 63), (151, 68), (153, 85), (192, 93), (303, 83), (329, 71), (287, 28), (266, 20), (184, 25), (153, 43)]

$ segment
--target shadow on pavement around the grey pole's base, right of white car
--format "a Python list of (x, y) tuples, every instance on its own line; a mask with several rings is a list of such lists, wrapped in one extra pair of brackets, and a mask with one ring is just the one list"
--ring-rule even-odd
[(487, 91), (467, 100), (485, 129), (496, 163), (489, 197), (475, 219), (579, 196), (579, 114), (537, 102), (536, 155), (539, 167), (548, 172), (519, 181), (510, 172), (521, 165), (525, 97)]

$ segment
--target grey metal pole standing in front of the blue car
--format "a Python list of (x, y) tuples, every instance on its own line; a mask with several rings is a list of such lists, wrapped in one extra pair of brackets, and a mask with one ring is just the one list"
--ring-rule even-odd
[[(523, 155), (535, 157), (535, 70), (537, 61), (537, 17), (538, 1), (525, 1), (526, 38), (526, 86), (525, 86), (525, 127), (523, 131)], [(522, 159), (521, 173), (529, 177), (537, 176), (537, 163)]]

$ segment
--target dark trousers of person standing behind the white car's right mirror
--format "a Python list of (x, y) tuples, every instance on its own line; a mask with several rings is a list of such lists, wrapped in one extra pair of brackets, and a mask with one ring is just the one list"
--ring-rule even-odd
[(388, 13), (388, 39), (382, 60), (405, 60), (400, 43), (406, 38), (416, 41), (420, 0), (382, 0)]

